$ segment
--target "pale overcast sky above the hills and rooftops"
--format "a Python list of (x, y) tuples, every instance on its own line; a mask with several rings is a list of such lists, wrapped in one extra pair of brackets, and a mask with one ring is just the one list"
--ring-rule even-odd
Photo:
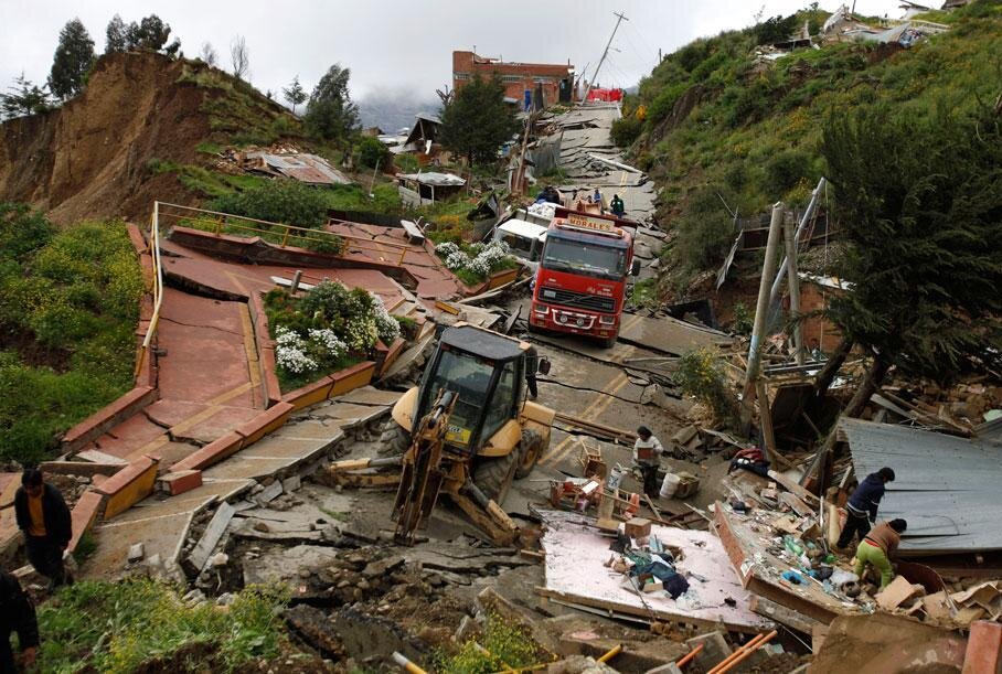
[[(669, 53), (691, 40), (789, 14), (804, 0), (0, 0), (0, 88), (22, 71), (44, 82), (60, 29), (79, 17), (100, 53), (115, 13), (128, 23), (156, 13), (181, 39), (186, 56), (210, 42), (221, 65), (230, 44), (246, 38), (250, 81), (279, 92), (294, 75), (309, 90), (329, 65), (351, 68), (351, 93), (406, 92), (435, 99), (451, 82), (452, 50), (473, 50), (508, 61), (566, 63), (594, 71), (621, 10), (622, 22), (599, 74), (604, 86), (630, 86), (649, 74), (658, 50)], [(821, 2), (833, 11), (838, 0)], [(857, 0), (856, 11), (897, 17), (896, 0)]]

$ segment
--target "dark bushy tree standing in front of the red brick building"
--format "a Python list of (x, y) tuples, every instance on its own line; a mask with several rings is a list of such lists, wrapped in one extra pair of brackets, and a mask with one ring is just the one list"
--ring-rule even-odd
[(495, 161), (498, 148), (518, 130), (515, 111), (504, 103), (504, 86), (497, 77), (475, 75), (441, 109), (441, 145), (470, 163)]

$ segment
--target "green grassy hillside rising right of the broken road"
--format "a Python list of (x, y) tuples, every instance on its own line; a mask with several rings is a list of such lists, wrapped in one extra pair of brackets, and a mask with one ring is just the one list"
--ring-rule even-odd
[[(803, 11), (791, 23), (814, 26), (825, 18)], [(755, 54), (767, 29), (758, 25), (697, 40), (643, 79), (614, 132), (662, 185), (661, 222), (674, 231), (664, 254), (664, 292), (684, 292), (723, 259), (734, 232), (721, 197), (742, 215), (780, 199), (806, 203), (824, 174), (818, 148), (830, 116), (888, 106), (925, 118), (995, 99), (1002, 90), (1002, 2), (977, 0), (919, 18), (951, 30), (907, 50), (838, 43), (768, 61)]]

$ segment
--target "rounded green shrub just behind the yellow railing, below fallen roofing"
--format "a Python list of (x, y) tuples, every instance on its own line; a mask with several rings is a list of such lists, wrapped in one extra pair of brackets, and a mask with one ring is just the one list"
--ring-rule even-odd
[(321, 227), (327, 223), (327, 200), (320, 188), (275, 179), (242, 193), (226, 194), (212, 202), (213, 211), (246, 215), (298, 227)]

